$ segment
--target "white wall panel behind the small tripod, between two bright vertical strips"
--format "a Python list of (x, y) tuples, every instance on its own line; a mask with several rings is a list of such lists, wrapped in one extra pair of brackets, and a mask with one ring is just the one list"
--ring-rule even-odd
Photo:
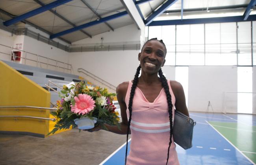
[[(237, 92), (237, 67), (189, 66), (188, 83), (189, 111), (206, 111), (210, 101), (214, 112), (223, 112), (224, 92)], [(230, 97), (230, 100), (237, 103), (237, 95)], [(234, 103), (227, 106), (227, 112), (234, 110), (237, 110)], [(212, 112), (211, 107), (209, 112)]]

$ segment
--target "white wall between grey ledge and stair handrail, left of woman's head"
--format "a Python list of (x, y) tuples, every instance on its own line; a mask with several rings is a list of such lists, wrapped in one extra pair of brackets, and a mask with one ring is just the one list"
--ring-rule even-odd
[(78, 68), (83, 68), (117, 86), (134, 78), (139, 66), (138, 53), (139, 50), (70, 53), (69, 62), (76, 75), (86, 77), (77, 72)]

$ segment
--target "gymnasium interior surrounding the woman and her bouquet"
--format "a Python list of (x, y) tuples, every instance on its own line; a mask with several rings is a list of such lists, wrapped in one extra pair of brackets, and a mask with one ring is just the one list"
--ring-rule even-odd
[[(49, 134), (57, 122), (50, 112), (71, 82), (116, 93), (134, 79), (143, 44), (158, 38), (167, 48), (163, 74), (182, 84), (196, 121), (193, 147), (176, 145), (180, 165), (256, 165), (255, 5), (0, 0), (0, 164), (125, 164), (126, 135)], [(116, 97), (113, 104), (121, 117)]]

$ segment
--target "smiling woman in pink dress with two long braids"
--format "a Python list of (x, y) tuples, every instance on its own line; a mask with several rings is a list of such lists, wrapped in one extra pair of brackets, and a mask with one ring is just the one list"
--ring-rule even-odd
[[(167, 50), (162, 40), (148, 40), (138, 60), (134, 80), (117, 86), (121, 108), (121, 130), (108, 126), (110, 132), (132, 135), (128, 165), (178, 165), (173, 142), (174, 106), (189, 116), (184, 90), (176, 81), (167, 81), (161, 67)], [(139, 76), (141, 70), (141, 76)], [(160, 76), (160, 78), (158, 77)], [(99, 130), (99, 127), (91, 131)], [(127, 155), (127, 144), (126, 144)]]

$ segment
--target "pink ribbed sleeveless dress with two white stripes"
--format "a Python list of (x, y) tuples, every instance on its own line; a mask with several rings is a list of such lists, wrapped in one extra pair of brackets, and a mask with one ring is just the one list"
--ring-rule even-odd
[[(168, 80), (169, 91), (173, 103), (173, 120), (175, 97)], [(129, 81), (125, 97), (126, 114), (129, 119), (128, 104), (132, 81)], [(153, 103), (148, 102), (141, 90), (136, 87), (132, 104), (132, 121), (130, 152), (127, 156), (127, 165), (165, 165), (170, 139), (170, 121), (167, 98), (164, 89)], [(169, 152), (168, 165), (179, 165), (173, 141)]]

